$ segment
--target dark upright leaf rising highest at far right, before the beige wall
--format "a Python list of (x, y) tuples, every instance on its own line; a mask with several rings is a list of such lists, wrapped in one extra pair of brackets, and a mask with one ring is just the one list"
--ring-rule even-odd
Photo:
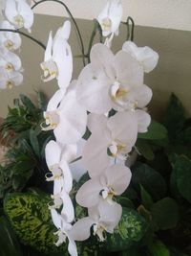
[(176, 95), (172, 94), (164, 115), (164, 126), (168, 130), (169, 138), (175, 140), (185, 122), (184, 108)]

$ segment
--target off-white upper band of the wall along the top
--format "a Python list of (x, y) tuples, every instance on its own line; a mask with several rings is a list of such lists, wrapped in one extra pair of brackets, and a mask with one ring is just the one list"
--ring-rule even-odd
[[(107, 0), (62, 0), (76, 18), (94, 19)], [(191, 31), (191, 0), (122, 0), (123, 19), (132, 16), (137, 25)], [(59, 4), (46, 2), (35, 12), (63, 16)]]

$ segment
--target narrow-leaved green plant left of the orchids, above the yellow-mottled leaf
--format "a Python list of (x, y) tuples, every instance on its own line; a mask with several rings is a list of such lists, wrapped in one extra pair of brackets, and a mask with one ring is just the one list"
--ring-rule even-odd
[(7, 164), (0, 166), (0, 198), (7, 192), (22, 191), (29, 184), (46, 187), (44, 149), (53, 133), (40, 128), (45, 107), (43, 98), (37, 92), (38, 106), (35, 106), (21, 94), (14, 100), (14, 106), (9, 107), (8, 116), (0, 126), (2, 143), (9, 147)]

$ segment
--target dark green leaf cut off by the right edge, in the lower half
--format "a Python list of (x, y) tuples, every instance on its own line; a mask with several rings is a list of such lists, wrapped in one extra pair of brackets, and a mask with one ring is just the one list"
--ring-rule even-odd
[(174, 165), (180, 195), (191, 202), (191, 160), (180, 155)]

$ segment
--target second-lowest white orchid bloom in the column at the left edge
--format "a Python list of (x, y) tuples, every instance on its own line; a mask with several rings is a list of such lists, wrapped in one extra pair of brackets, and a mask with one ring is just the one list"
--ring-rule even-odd
[(22, 71), (21, 59), (14, 53), (0, 47), (0, 67), (5, 68), (7, 72)]

